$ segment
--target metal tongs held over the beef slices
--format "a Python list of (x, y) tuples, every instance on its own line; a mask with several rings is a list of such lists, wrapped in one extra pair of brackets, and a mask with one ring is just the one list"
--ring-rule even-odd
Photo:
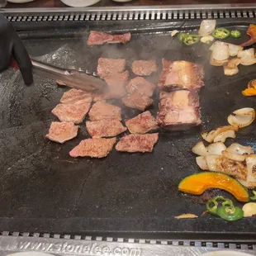
[[(96, 73), (89, 73), (81, 69), (62, 69), (51, 64), (45, 64), (31, 59), (33, 72), (45, 78), (52, 78), (69, 86), (87, 92), (101, 92), (106, 88), (106, 83)], [(17, 63), (12, 63), (15, 69), (19, 69)]]

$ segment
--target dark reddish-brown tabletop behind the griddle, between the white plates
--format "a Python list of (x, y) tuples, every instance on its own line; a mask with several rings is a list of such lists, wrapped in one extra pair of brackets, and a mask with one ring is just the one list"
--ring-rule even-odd
[[(113, 2), (111, 0), (102, 0), (95, 4), (95, 7), (113, 7), (113, 6), (149, 6), (149, 5), (184, 5), (184, 4), (219, 4), (219, 3), (254, 3), (255, 0), (134, 0), (126, 3)], [(8, 3), (7, 7), (67, 7), (60, 0), (36, 0), (23, 4)]]

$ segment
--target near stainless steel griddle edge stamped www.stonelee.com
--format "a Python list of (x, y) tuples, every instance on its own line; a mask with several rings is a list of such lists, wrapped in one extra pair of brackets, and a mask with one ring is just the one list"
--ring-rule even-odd
[(195, 242), (194, 246), (190, 246), (190, 241), (180, 242), (173, 241), (170, 245), (167, 241), (145, 240), (145, 239), (113, 239), (111, 237), (102, 239), (91, 236), (81, 238), (81, 236), (45, 234), (29, 234), (29, 233), (13, 233), (8, 235), (3, 232), (0, 236), (0, 256), (13, 254), (17, 252), (34, 251), (56, 255), (112, 255), (112, 256), (168, 256), (183, 255), (197, 256), (216, 250), (232, 250), (256, 255), (254, 246), (241, 244), (237, 249), (236, 244), (229, 244), (226, 248), (223, 243), (206, 243), (202, 246), (201, 242)]

